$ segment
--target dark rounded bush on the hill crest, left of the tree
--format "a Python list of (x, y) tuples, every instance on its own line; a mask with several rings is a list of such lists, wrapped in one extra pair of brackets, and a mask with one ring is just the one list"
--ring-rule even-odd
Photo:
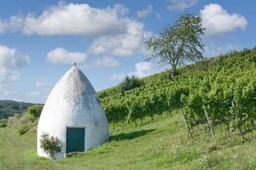
[(143, 85), (143, 82), (141, 82), (137, 77), (134, 75), (131, 77), (125, 77), (123, 82), (120, 84), (120, 91), (125, 92), (127, 90), (130, 90), (132, 88), (138, 88)]

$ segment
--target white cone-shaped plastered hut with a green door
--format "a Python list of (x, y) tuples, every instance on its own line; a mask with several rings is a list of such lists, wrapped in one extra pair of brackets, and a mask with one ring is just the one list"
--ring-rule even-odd
[(40, 147), (43, 133), (61, 140), (56, 159), (70, 152), (93, 149), (108, 140), (108, 121), (102, 105), (76, 65), (56, 83), (39, 118), (38, 156), (49, 157)]

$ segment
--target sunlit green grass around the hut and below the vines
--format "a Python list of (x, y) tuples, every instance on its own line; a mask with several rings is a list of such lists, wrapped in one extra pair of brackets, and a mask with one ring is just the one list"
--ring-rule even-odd
[[(256, 140), (212, 138), (199, 127), (189, 140), (179, 114), (137, 127), (111, 127), (110, 141), (85, 154), (51, 161), (36, 154), (36, 135), (0, 128), (0, 169), (255, 169)], [(209, 151), (217, 146), (217, 150)]]

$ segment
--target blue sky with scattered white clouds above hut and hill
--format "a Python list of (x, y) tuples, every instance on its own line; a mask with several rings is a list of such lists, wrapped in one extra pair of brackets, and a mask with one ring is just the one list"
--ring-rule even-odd
[(44, 103), (78, 62), (96, 91), (159, 69), (145, 62), (149, 37), (186, 8), (201, 15), (205, 56), (253, 48), (253, 0), (0, 1), (0, 99)]

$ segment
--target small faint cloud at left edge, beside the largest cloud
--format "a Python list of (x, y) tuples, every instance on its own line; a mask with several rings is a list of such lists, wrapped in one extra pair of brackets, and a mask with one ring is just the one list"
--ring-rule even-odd
[(0, 20), (0, 33), (20, 31), (24, 24), (24, 17), (11, 16), (8, 20)]

